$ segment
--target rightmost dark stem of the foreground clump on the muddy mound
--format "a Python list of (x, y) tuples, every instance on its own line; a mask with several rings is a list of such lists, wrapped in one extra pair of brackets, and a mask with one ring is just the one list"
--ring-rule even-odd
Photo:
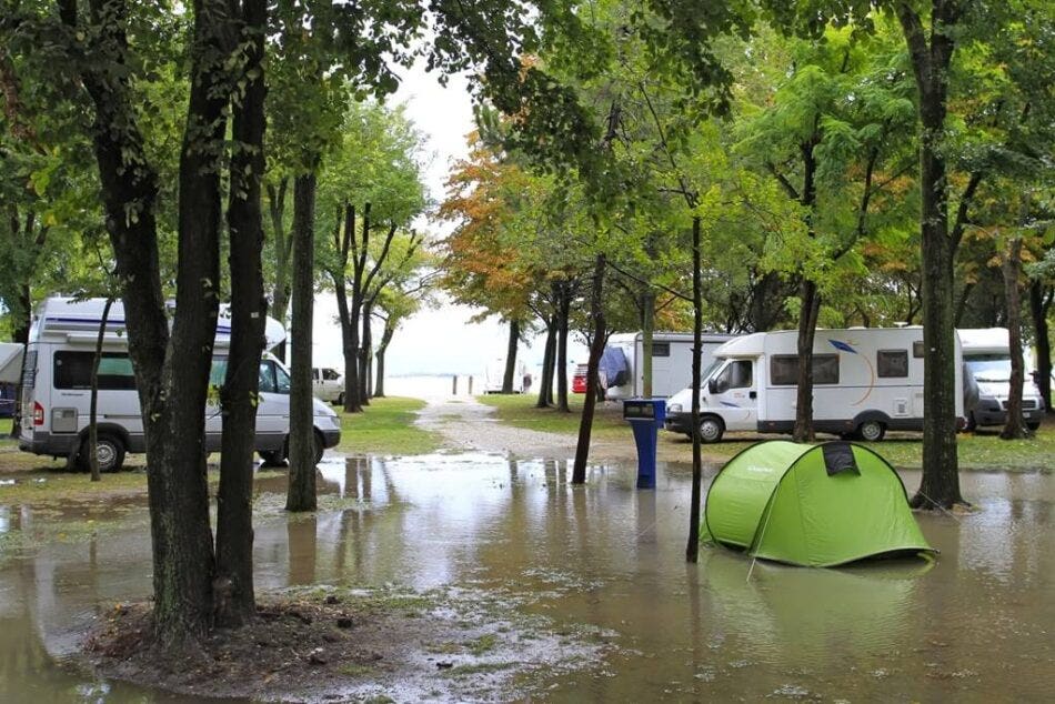
[(228, 232), (231, 273), (231, 349), (220, 393), (223, 439), (217, 492), (217, 621), (241, 625), (255, 615), (253, 587), (253, 452), (260, 359), (265, 346), (263, 213), (264, 79), (261, 60), (267, 0), (242, 1), (247, 62), (244, 93), (235, 101)]

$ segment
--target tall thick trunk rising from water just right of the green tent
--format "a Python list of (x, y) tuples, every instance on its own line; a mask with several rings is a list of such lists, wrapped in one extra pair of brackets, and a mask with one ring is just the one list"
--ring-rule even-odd
[[(931, 38), (921, 18), (907, 3), (895, 11), (912, 59), (920, 93), (921, 250), (925, 410), (923, 419), (923, 476), (911, 504), (948, 509), (964, 503), (959, 493), (956, 454), (955, 322), (953, 260), (956, 242), (948, 232), (948, 182), (944, 157), (948, 67), (954, 40), (951, 32), (958, 3), (932, 7)], [(949, 20), (949, 21), (946, 21)]]

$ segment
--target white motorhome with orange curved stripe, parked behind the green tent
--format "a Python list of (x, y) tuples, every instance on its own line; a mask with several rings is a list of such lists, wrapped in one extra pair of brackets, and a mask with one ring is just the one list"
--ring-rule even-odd
[[(798, 332), (757, 332), (726, 342), (701, 378), (700, 438), (726, 431), (791, 433), (795, 425)], [(959, 340), (956, 415), (963, 416)], [(882, 440), (923, 429), (923, 328), (817, 330), (813, 345), (813, 426)], [(665, 428), (690, 434), (692, 390), (667, 403)]]

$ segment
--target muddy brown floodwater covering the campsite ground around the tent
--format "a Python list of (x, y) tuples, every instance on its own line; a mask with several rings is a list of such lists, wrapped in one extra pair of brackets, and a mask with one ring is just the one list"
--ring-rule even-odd
[[(281, 511), (281, 476), (260, 482), (258, 589), (500, 591), (615, 646), (536, 673), (532, 698), (1049, 701), (1055, 690), (1051, 474), (963, 474), (981, 511), (920, 516), (941, 550), (933, 564), (810, 570), (716, 549), (686, 564), (681, 464), (661, 465), (654, 491), (634, 489), (631, 466), (593, 467), (573, 487), (570, 463), (488, 454), (321, 467), (331, 496), (307, 519)], [(68, 519), (0, 506), (0, 540), (33, 543), (0, 551), (0, 701), (169, 701), (54, 664), (100, 613), (150, 590), (144, 509), (82, 535), (54, 527)]]

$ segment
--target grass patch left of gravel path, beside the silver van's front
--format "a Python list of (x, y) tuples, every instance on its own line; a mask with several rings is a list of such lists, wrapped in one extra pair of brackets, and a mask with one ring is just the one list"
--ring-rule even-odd
[(338, 451), (375, 454), (429, 454), (442, 446), (442, 439), (414, 424), (425, 406), (420, 399), (373, 399), (362, 413), (341, 413), (341, 443)]

